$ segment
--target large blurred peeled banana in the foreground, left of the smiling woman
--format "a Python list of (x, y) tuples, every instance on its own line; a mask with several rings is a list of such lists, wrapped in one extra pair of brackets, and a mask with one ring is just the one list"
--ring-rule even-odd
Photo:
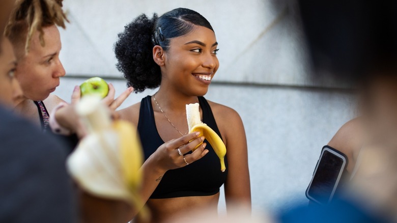
[(143, 207), (138, 194), (143, 152), (136, 128), (126, 121), (112, 122), (96, 96), (81, 98), (76, 112), (89, 134), (67, 159), (72, 178), (94, 196)]

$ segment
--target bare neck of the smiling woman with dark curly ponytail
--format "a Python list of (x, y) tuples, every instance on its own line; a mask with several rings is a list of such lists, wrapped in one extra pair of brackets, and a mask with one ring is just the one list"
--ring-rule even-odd
[(155, 94), (157, 102), (161, 103), (161, 107), (166, 110), (186, 111), (186, 104), (198, 103), (197, 96), (187, 96), (180, 92), (166, 89), (160, 86)]

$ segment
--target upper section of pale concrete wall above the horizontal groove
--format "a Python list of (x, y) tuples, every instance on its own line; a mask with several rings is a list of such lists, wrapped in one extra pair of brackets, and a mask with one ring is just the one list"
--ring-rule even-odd
[(120, 77), (113, 46), (137, 15), (186, 7), (204, 15), (219, 42), (216, 81), (292, 86), (339, 86), (313, 81), (298, 9), (287, 0), (68, 0), (71, 23), (62, 32), (62, 57), (69, 75)]

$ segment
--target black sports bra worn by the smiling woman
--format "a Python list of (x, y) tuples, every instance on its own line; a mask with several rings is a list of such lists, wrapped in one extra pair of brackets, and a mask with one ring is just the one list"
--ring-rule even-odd
[[(198, 97), (198, 102), (203, 110), (203, 122), (221, 137), (207, 100), (204, 97)], [(140, 102), (138, 132), (146, 160), (164, 144), (157, 131), (151, 96), (143, 98)], [(228, 176), (228, 162), (225, 157), (226, 171), (222, 173), (218, 156), (207, 140), (204, 142), (207, 143), (206, 149), (209, 152), (189, 165), (167, 171), (152, 193), (151, 199), (211, 196), (219, 192), (219, 187)]]

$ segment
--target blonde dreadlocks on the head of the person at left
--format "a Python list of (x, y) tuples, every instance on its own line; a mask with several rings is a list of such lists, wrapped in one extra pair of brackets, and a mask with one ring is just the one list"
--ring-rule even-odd
[[(31, 40), (36, 31), (40, 32), (41, 46), (45, 46), (43, 27), (56, 24), (65, 29), (69, 22), (62, 10), (63, 0), (17, 0), (7, 24), (5, 35), (24, 35), (21, 26), (26, 29), (25, 53), (29, 52)], [(12, 40), (14, 38), (10, 38)]]

